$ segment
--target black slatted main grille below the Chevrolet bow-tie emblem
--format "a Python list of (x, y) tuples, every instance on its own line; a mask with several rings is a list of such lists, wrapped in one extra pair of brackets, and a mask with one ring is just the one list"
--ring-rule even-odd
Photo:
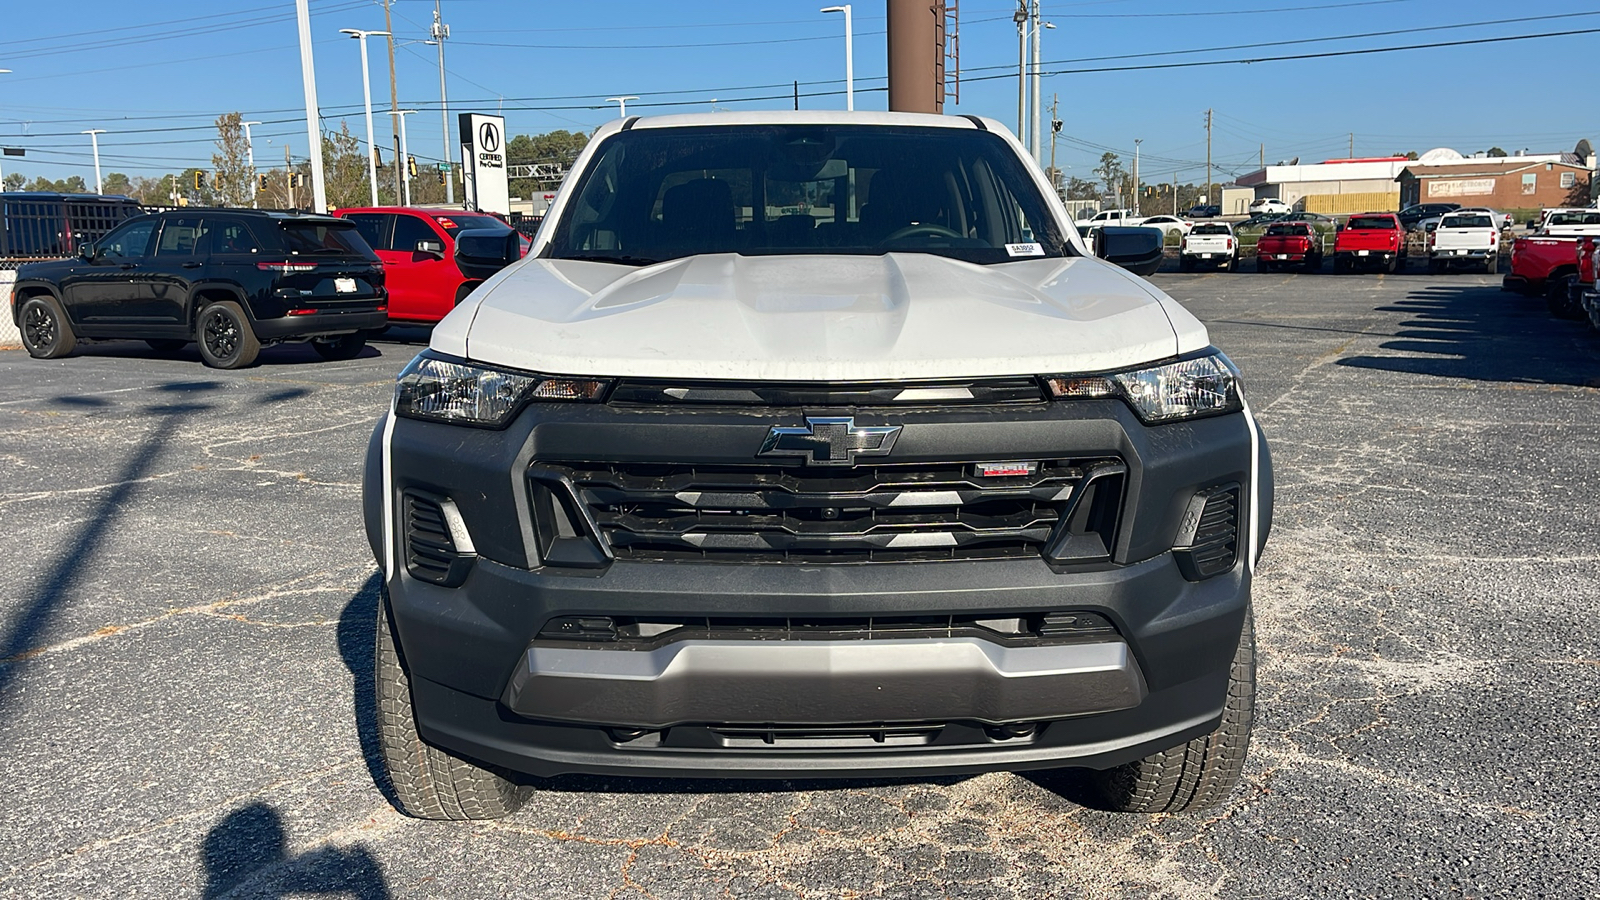
[(618, 559), (880, 562), (1038, 556), (1088, 466), (976, 463), (547, 466), (570, 479)]

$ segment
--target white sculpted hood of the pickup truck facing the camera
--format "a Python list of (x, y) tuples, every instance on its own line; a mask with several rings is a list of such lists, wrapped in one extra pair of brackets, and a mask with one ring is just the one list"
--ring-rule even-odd
[(432, 346), (555, 375), (902, 381), (1112, 370), (1206, 343), (1174, 301), (1091, 258), (722, 253), (525, 259), (440, 322)]

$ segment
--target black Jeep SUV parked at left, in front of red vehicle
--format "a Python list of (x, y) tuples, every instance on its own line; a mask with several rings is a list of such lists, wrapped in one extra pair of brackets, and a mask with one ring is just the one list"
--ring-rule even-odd
[(216, 368), (264, 344), (310, 341), (352, 359), (389, 320), (384, 267), (355, 226), (330, 216), (178, 210), (128, 219), (74, 259), (18, 271), (11, 315), (37, 359), (80, 340), (189, 341)]

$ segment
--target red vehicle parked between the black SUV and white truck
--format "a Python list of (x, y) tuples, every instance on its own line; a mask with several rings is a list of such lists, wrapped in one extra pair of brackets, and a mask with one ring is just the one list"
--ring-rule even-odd
[[(480, 280), (456, 266), (456, 235), (462, 231), (509, 234), (512, 227), (490, 213), (422, 207), (352, 207), (334, 213), (350, 219), (384, 263), (389, 285), (389, 322), (432, 325), (472, 293)], [(528, 253), (530, 242), (522, 240)]]

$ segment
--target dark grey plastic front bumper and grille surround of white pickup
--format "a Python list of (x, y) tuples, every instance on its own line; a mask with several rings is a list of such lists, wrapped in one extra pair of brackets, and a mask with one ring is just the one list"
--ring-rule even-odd
[[(1130, 484), (1110, 560), (616, 559), (576, 569), (539, 564), (525, 477), (534, 460), (706, 460), (709, 448), (747, 458), (738, 450), (749, 444), (746, 432), (754, 426), (760, 445), (778, 413), (707, 410), (677, 420), (659, 410), (550, 407), (502, 432), (395, 420), (387, 479), (384, 429), (374, 436), (368, 530), (386, 562), (418, 727), (438, 746), (534, 775), (954, 773), (1115, 765), (1203, 733), (1221, 716), (1250, 567), (1240, 560), (1190, 581), (1170, 548), (1190, 498), (1222, 482), (1245, 485), (1240, 520), (1259, 520), (1245, 540), (1256, 548), (1266, 540), (1270, 468), (1243, 415), (1146, 428), (1117, 400), (894, 413), (906, 424), (896, 456), (904, 452), (907, 461), (934, 453), (1125, 460)], [(974, 450), (982, 439), (992, 442)], [(413, 578), (394, 562), (405, 546), (400, 528), (386, 527), (384, 500), (398, 511), (408, 490), (451, 498), (470, 530), (477, 556), (458, 586)], [(552, 618), (582, 615), (818, 621), (1056, 610), (1102, 615), (1115, 634), (1029, 647), (955, 634), (645, 649), (538, 637)], [(1006, 724), (1027, 727), (995, 732)], [(752, 746), (728, 737), (731, 725), (805, 725), (821, 737)], [(840, 729), (902, 725), (923, 729), (920, 743), (882, 730), (840, 737)]]

